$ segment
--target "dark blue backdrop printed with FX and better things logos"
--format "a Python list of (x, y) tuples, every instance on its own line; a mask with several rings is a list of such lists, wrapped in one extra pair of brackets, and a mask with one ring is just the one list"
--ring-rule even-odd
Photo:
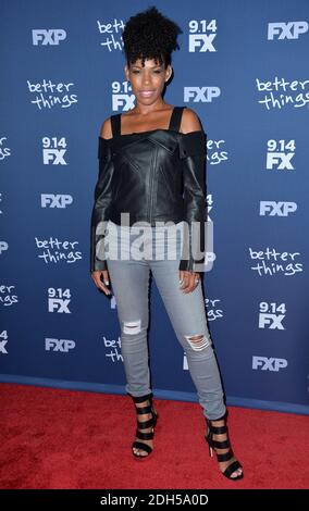
[[(0, 381), (125, 394), (90, 213), (100, 126), (135, 102), (122, 30), (151, 4), (183, 30), (164, 100), (207, 134), (205, 307), (227, 404), (309, 413), (307, 0), (1, 1)], [(197, 401), (154, 278), (149, 350), (154, 396)]]

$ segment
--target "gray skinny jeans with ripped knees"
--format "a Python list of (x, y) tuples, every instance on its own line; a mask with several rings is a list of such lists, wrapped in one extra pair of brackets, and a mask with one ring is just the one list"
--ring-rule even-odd
[(182, 222), (172, 226), (149, 225), (140, 230), (135, 225), (108, 222), (104, 247), (121, 326), (125, 389), (132, 396), (152, 391), (147, 344), (151, 270), (175, 335), (186, 353), (203, 415), (215, 420), (225, 413), (223, 388), (207, 326), (201, 283), (191, 292), (184, 294), (180, 289), (182, 239), (177, 233), (181, 225)]

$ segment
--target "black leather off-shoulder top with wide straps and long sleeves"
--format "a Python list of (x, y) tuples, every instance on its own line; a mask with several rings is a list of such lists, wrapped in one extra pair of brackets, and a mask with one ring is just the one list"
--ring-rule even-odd
[[(178, 132), (185, 107), (174, 107), (168, 129), (121, 135), (121, 114), (111, 115), (113, 137), (99, 136), (99, 175), (91, 214), (90, 272), (108, 270), (97, 257), (104, 233), (98, 225), (186, 221), (180, 270), (203, 271), (206, 204), (206, 133)], [(128, 215), (126, 215), (128, 216)], [(198, 224), (197, 224), (198, 223)], [(195, 225), (194, 225), (195, 224)], [(196, 230), (197, 228), (197, 230)], [(195, 251), (195, 248), (196, 250)], [(196, 256), (202, 256), (195, 258)], [(198, 266), (196, 263), (199, 263)], [(198, 270), (195, 270), (196, 266)]]

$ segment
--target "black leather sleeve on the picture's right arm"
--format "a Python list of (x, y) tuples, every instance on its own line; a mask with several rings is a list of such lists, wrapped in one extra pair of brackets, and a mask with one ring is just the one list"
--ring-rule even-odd
[(206, 133), (183, 134), (180, 142), (184, 185), (184, 242), (180, 270), (205, 271)]

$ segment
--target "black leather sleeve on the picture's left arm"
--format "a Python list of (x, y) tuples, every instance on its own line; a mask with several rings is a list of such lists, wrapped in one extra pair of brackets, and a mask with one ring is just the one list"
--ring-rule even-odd
[(95, 187), (95, 203), (91, 213), (90, 233), (90, 272), (107, 270), (104, 259), (104, 233), (112, 203), (112, 160), (111, 139), (99, 137), (99, 174)]

